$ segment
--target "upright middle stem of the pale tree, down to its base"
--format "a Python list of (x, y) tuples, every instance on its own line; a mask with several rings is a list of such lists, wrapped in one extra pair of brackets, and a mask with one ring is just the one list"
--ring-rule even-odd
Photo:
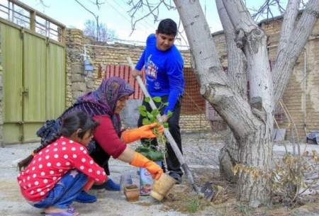
[[(218, 3), (218, 1), (216, 2)], [(240, 137), (239, 163), (269, 173), (272, 164), (272, 74), (269, 67), (267, 35), (252, 20), (242, 1), (223, 1), (231, 23), (237, 33), (237, 47), (241, 47), (247, 59), (247, 74), (250, 80), (250, 106), (261, 120), (249, 137)], [(222, 19), (220, 17), (220, 19)], [(235, 63), (235, 62), (233, 62)], [(235, 154), (235, 157), (237, 154)], [(240, 172), (238, 198), (249, 201), (257, 207), (269, 203), (271, 195), (270, 178)]]

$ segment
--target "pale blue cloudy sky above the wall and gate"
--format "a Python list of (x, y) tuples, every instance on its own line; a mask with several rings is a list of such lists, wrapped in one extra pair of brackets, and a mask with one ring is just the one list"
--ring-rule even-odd
[[(0, 0), (3, 4), (7, 0)], [(40, 0), (20, 0), (24, 4), (35, 8), (35, 10), (45, 13), (47, 16), (64, 23), (68, 28), (84, 28), (85, 21), (91, 19), (94, 20), (94, 16), (86, 11), (82, 6), (77, 4), (74, 0), (43, 0), (43, 4), (40, 4)], [(130, 6), (127, 4), (129, 0), (99, 0), (104, 2), (101, 9), (92, 4), (95, 0), (79, 0), (84, 6), (89, 8), (90, 11), (99, 15), (100, 23), (105, 23), (107, 28), (115, 30), (116, 38), (120, 40), (140, 41), (144, 42), (147, 35), (155, 33), (158, 22), (154, 23), (154, 18), (147, 17), (136, 24), (135, 30), (132, 33), (130, 15), (128, 11)], [(244, 0), (248, 7), (257, 8), (262, 5), (264, 0)], [(286, 0), (284, 0), (286, 1)], [(136, 2), (136, 0), (135, 0)], [(156, 0), (149, 0), (149, 2), (156, 2)], [(222, 25), (218, 17), (216, 10), (216, 3), (214, 0), (200, 0), (204, 13), (206, 14), (206, 20), (211, 28), (211, 33), (218, 30), (222, 30)], [(136, 18), (140, 18), (145, 15), (146, 8), (143, 11), (138, 11)], [(277, 14), (279, 15), (279, 13)], [(159, 8), (159, 20), (163, 18), (172, 18), (179, 23), (179, 16), (176, 10), (168, 11), (167, 8), (162, 6)], [(180, 29), (182, 31), (182, 27)], [(132, 34), (131, 34), (132, 33)], [(186, 38), (185, 36), (183, 38)], [(187, 42), (182, 38), (178, 38), (175, 42), (177, 45), (187, 45)]]

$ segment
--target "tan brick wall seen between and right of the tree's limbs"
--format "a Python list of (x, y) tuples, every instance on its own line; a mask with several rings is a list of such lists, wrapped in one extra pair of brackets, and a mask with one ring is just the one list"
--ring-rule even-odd
[[(276, 18), (270, 22), (262, 23), (262, 28), (268, 35), (269, 59), (274, 62), (276, 46), (279, 41), (281, 19)], [(319, 130), (319, 22), (315, 25), (310, 36), (306, 50), (296, 62), (293, 74), (284, 92), (283, 101), (289, 110), (293, 123), (298, 130), (298, 136), (302, 141), (306, 140), (306, 132)], [(225, 37), (223, 33), (213, 35), (223, 66), (227, 66), (227, 53)], [(305, 71), (306, 70), (306, 71)], [(306, 72), (306, 79), (305, 79)], [(306, 91), (305, 82), (306, 81)], [(305, 100), (306, 97), (306, 100)], [(306, 111), (305, 111), (306, 107)], [(279, 127), (291, 128), (293, 125), (286, 117)], [(305, 127), (306, 126), (306, 127)], [(291, 131), (287, 130), (287, 137), (291, 138)]]

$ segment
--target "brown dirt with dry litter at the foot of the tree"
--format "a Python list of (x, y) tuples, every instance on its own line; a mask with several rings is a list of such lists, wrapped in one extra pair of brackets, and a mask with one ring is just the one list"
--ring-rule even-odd
[(225, 191), (219, 195), (217, 200), (208, 202), (203, 198), (198, 198), (198, 195), (191, 190), (191, 186), (187, 183), (176, 185), (162, 202), (161, 210), (176, 210), (188, 215), (214, 216), (305, 216), (319, 212), (318, 195), (311, 196), (309, 200), (312, 203), (297, 204), (293, 208), (284, 207), (282, 203), (273, 204), (271, 207), (250, 208), (246, 204), (237, 202), (236, 185), (220, 177), (217, 169), (200, 169), (194, 173), (200, 176), (196, 179), (198, 186), (203, 185), (206, 181), (211, 181), (213, 185), (225, 188)]

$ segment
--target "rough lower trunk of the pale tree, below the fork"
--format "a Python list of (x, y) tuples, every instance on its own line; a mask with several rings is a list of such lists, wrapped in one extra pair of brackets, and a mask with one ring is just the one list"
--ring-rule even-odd
[(272, 169), (272, 127), (272, 120), (268, 120), (267, 124), (255, 128), (252, 135), (240, 140), (240, 162), (255, 169), (257, 176), (240, 171), (237, 193), (239, 200), (248, 201), (252, 207), (270, 202), (271, 179), (264, 174)]

